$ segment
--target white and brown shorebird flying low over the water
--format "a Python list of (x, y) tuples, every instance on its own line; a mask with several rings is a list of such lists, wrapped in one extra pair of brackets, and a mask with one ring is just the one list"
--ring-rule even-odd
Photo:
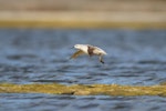
[(75, 59), (81, 54), (89, 54), (90, 57), (98, 56), (100, 57), (100, 62), (104, 63), (102, 57), (107, 54), (101, 48), (93, 47), (93, 46), (90, 46), (90, 44), (75, 44), (74, 48), (77, 49), (77, 51), (70, 59)]

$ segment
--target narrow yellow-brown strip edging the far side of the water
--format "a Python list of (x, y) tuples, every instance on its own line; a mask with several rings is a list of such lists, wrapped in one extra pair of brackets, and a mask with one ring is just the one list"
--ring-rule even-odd
[(163, 22), (93, 22), (93, 21), (6, 21), (0, 20), (0, 28), (128, 28), (128, 29), (166, 29)]

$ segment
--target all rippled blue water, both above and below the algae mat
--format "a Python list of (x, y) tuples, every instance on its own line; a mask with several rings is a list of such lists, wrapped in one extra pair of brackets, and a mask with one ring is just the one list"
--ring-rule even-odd
[[(93, 57), (69, 60), (75, 43), (104, 49), (105, 64)], [(0, 82), (117, 83), (166, 82), (165, 30), (0, 29)], [(0, 94), (0, 111), (165, 111), (160, 97), (72, 97)]]

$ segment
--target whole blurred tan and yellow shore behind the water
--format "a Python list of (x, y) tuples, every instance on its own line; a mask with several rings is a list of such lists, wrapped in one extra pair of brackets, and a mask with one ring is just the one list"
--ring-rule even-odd
[(166, 28), (165, 0), (0, 0), (0, 27)]

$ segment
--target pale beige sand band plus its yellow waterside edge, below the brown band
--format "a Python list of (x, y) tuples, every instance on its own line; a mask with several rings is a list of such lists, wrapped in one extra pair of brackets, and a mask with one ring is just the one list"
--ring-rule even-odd
[(1, 11), (0, 27), (166, 28), (166, 12)]

